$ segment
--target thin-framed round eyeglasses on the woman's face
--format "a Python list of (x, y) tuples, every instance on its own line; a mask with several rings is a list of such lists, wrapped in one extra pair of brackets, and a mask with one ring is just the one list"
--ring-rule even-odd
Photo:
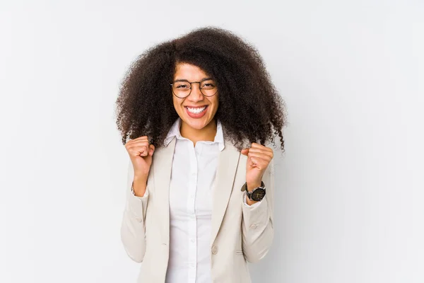
[(199, 83), (199, 88), (201, 94), (204, 96), (214, 96), (218, 92), (218, 87), (216, 86), (215, 81), (210, 78), (202, 79), (201, 81), (192, 81), (187, 80), (177, 80), (174, 83), (170, 83), (172, 87), (172, 93), (174, 93), (177, 98), (186, 98), (192, 93), (192, 83)]

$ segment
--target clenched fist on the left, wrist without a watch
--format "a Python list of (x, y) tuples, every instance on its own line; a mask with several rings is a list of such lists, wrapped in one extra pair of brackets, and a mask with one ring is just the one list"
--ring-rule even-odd
[(126, 142), (125, 149), (134, 168), (134, 180), (145, 180), (147, 182), (155, 146), (148, 143), (147, 136), (143, 136), (130, 139)]

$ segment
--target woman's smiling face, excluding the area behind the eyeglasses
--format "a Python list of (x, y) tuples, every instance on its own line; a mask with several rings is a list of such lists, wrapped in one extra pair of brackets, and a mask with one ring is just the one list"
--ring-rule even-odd
[[(202, 69), (192, 64), (179, 63), (177, 64), (174, 83), (177, 80), (187, 81), (202, 81), (211, 78)], [(204, 81), (204, 83), (215, 83), (215, 81)], [(193, 129), (203, 129), (215, 117), (216, 110), (218, 110), (218, 92), (214, 96), (204, 96), (199, 88), (199, 85), (204, 83), (192, 83), (192, 92), (186, 98), (178, 98), (172, 94), (174, 108), (179, 117), (184, 123), (184, 126)], [(211, 86), (210, 84), (205, 85)], [(204, 88), (206, 89), (206, 88)], [(206, 108), (205, 108), (206, 107)], [(205, 108), (203, 111), (201, 111)]]

